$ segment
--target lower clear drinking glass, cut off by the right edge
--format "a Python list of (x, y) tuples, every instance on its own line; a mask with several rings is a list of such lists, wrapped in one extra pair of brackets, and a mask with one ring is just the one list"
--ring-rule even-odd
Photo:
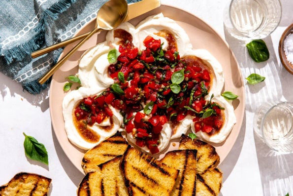
[(278, 152), (293, 152), (293, 103), (265, 103), (254, 117), (254, 129)]

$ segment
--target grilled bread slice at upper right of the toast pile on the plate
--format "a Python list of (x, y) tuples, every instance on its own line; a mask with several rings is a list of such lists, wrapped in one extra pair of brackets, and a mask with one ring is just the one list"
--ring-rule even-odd
[(186, 135), (181, 136), (179, 149), (197, 150), (197, 173), (199, 174), (203, 173), (208, 168), (215, 167), (220, 162), (220, 157), (215, 147), (201, 140), (192, 140)]

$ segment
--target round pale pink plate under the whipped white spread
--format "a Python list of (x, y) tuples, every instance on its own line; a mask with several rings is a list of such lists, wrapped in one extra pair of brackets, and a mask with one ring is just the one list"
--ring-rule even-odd
[[(233, 53), (230, 51), (228, 44), (210, 26), (196, 16), (183, 10), (162, 5), (153, 11), (130, 20), (130, 22), (135, 26), (147, 16), (158, 14), (160, 12), (162, 12), (164, 16), (175, 20), (186, 31), (194, 49), (207, 49), (214, 57), (216, 57), (221, 63), (225, 74), (224, 90), (232, 91), (239, 96), (238, 99), (233, 101), (237, 123), (233, 127), (233, 130), (226, 141), (221, 144), (213, 144), (216, 147), (216, 151), (218, 152), (221, 161), (223, 161), (237, 139), (244, 116), (244, 83), (237, 61)], [(91, 31), (95, 26), (95, 22), (95, 20), (89, 22), (76, 35), (81, 35)], [(83, 172), (81, 168), (81, 160), (86, 151), (75, 147), (67, 139), (62, 114), (62, 101), (66, 94), (66, 92), (63, 91), (63, 86), (67, 82), (65, 79), (67, 76), (75, 75), (77, 73), (78, 60), (81, 55), (86, 49), (103, 41), (105, 39), (105, 34), (106, 32), (102, 32), (99, 35), (94, 35), (91, 39), (86, 41), (85, 44), (53, 75), (50, 86), (50, 114), (55, 134), (67, 157), (81, 172)], [(63, 57), (73, 46), (74, 44), (66, 46), (61, 57)], [(75, 87), (72, 86), (71, 89), (75, 89)]]

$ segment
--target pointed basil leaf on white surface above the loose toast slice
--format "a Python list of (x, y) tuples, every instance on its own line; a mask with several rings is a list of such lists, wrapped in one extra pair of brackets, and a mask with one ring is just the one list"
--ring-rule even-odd
[(45, 146), (32, 136), (28, 136), (25, 133), (23, 134), (25, 136), (24, 148), (26, 156), (48, 165), (48, 153)]

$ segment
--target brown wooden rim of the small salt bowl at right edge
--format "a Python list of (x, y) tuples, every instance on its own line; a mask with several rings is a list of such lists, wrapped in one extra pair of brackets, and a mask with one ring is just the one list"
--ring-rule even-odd
[(280, 56), (280, 60), (283, 64), (283, 66), (286, 68), (286, 70), (288, 72), (290, 72), (290, 74), (293, 75), (293, 65), (292, 63), (290, 63), (288, 60), (287, 60), (287, 57), (286, 57), (286, 54), (285, 54), (285, 51), (284, 51), (284, 40), (286, 39), (286, 37), (289, 35), (289, 34), (292, 34), (293, 33), (293, 24), (291, 24), (283, 33), (283, 35), (281, 36), (281, 39), (280, 39), (280, 42), (279, 42), (279, 56)]

